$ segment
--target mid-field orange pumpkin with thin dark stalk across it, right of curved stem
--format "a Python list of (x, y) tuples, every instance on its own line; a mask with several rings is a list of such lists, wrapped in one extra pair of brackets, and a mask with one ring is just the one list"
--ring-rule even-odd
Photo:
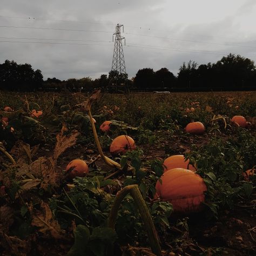
[(113, 156), (124, 154), (127, 150), (134, 150), (135, 147), (134, 140), (131, 137), (121, 135), (113, 139), (113, 142), (110, 145), (110, 153)]

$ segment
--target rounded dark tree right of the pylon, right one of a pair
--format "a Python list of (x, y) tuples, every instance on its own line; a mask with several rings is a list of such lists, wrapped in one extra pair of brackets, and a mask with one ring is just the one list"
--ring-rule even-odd
[(161, 68), (155, 72), (156, 87), (172, 87), (176, 82), (176, 77), (166, 68)]

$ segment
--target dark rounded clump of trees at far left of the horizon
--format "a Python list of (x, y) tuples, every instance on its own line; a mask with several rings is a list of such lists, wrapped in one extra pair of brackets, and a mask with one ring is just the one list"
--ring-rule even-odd
[(14, 60), (0, 64), (0, 89), (33, 91), (42, 83), (41, 71), (34, 71), (30, 64), (17, 64)]

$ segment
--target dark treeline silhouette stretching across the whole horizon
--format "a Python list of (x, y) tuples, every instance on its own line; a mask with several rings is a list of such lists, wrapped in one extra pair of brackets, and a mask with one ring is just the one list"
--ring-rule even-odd
[(110, 71), (95, 80), (90, 77), (59, 80), (55, 77), (43, 81), (40, 70), (34, 71), (29, 64), (17, 64), (5, 60), (0, 64), (0, 89), (69, 90), (92, 91), (101, 87), (115, 92), (124, 87), (134, 91), (219, 91), (256, 90), (256, 67), (253, 60), (230, 53), (217, 63), (199, 65), (190, 60), (180, 66), (177, 76), (167, 68), (154, 71), (151, 68), (138, 70), (136, 76), (128, 79), (125, 73)]

